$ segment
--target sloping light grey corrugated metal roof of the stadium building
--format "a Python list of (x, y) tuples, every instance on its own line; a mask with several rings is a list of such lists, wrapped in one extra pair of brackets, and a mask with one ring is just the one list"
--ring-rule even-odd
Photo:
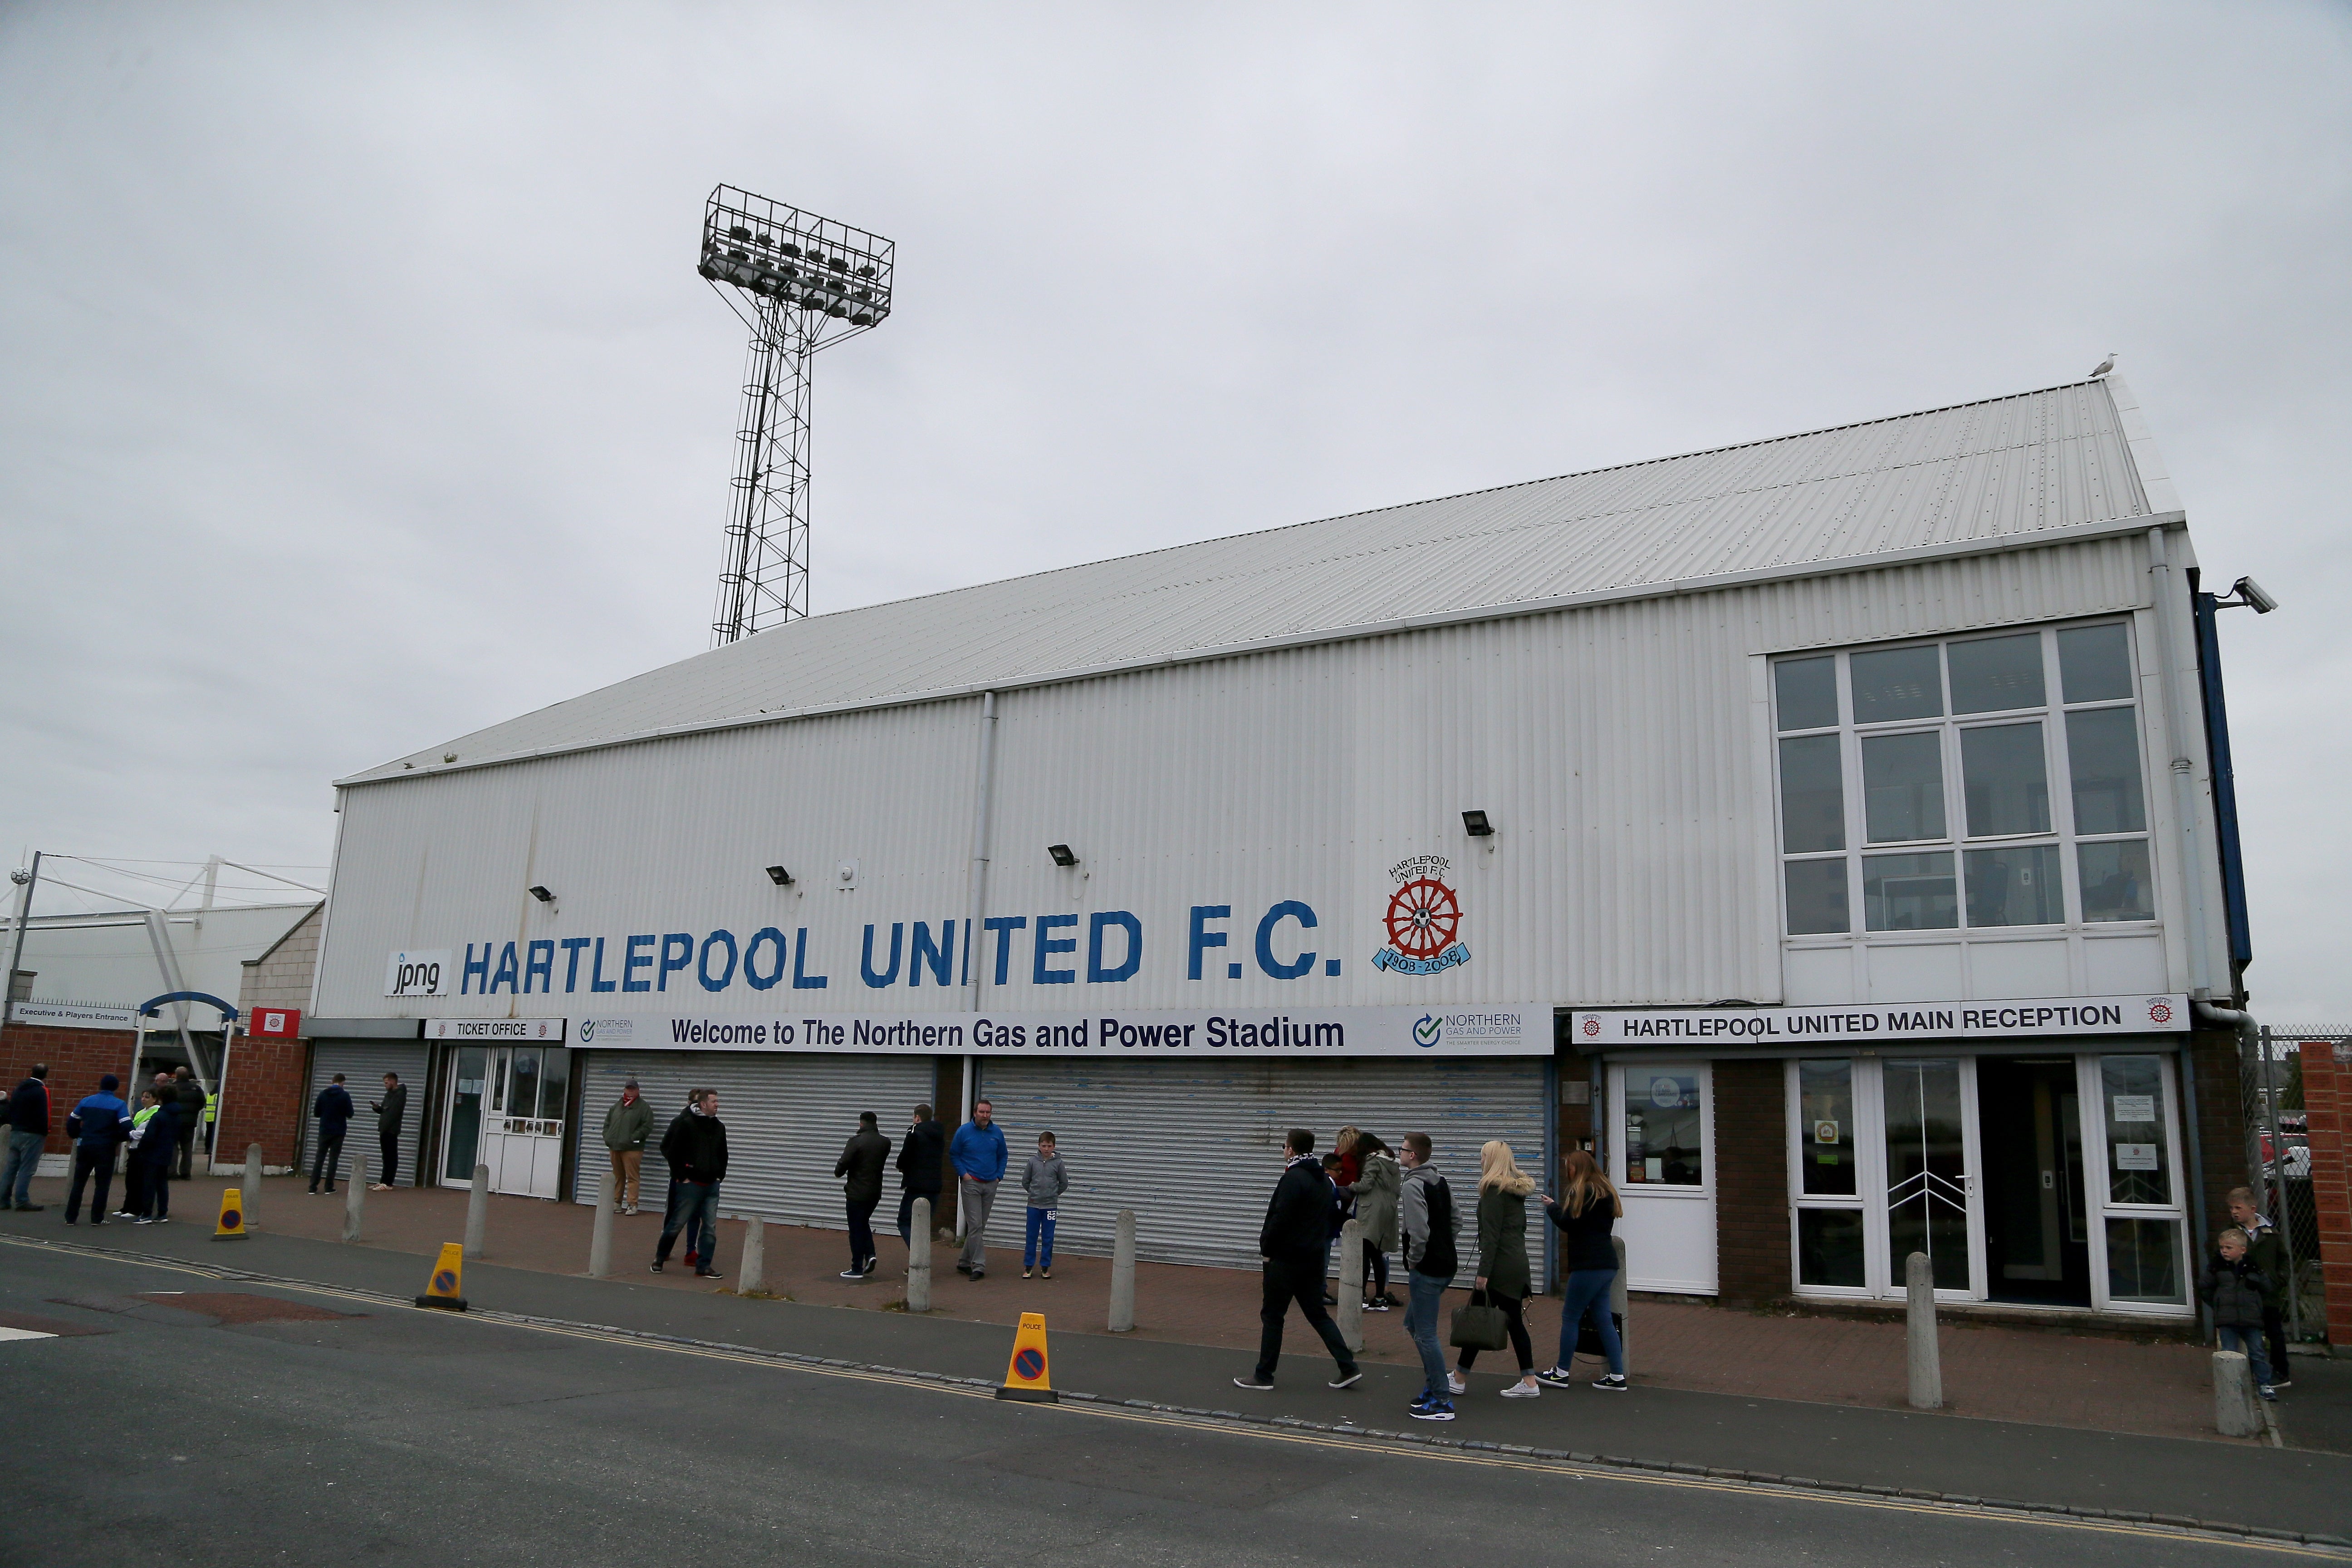
[[(2145, 475), (2145, 482), (2143, 482)], [(2147, 517), (2161, 461), (2114, 381), (1416, 501), (790, 621), (343, 783), (757, 715), (1348, 635), (1423, 616)]]

